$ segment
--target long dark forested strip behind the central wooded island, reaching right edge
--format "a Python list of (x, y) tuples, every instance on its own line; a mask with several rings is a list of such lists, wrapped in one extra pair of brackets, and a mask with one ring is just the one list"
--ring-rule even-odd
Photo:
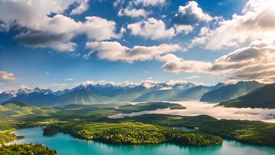
[(248, 120), (217, 120), (207, 115), (175, 116), (146, 114), (109, 122), (142, 122), (162, 126), (199, 127), (203, 133), (248, 144), (275, 146), (275, 123)]

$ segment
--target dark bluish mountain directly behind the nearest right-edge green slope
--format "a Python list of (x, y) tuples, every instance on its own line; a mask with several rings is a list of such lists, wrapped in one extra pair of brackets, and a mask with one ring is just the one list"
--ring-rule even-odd
[(249, 81), (249, 82), (241, 81), (241, 82), (238, 82), (237, 84), (228, 85), (213, 91), (209, 91), (203, 94), (200, 101), (214, 102), (214, 103), (226, 101), (226, 100), (244, 95), (262, 86), (264, 86), (264, 84), (258, 83), (256, 81)]

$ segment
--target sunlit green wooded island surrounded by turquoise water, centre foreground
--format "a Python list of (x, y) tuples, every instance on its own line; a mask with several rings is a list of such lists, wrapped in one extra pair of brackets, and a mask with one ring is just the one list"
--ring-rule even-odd
[(81, 139), (102, 141), (116, 144), (156, 144), (173, 142), (184, 145), (216, 145), (222, 143), (220, 137), (198, 131), (178, 131), (170, 127), (143, 123), (83, 123), (73, 122), (49, 125), (44, 128), (44, 135), (57, 132), (70, 133)]

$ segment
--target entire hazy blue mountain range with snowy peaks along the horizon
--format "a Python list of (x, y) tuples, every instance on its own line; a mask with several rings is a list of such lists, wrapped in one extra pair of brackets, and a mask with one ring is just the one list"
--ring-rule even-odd
[(23, 101), (34, 106), (49, 106), (60, 104), (92, 104), (104, 102), (134, 101), (184, 101), (201, 100), (221, 102), (245, 95), (257, 90), (265, 84), (256, 81), (238, 82), (226, 85), (218, 83), (215, 86), (196, 85), (195, 83), (156, 83), (150, 87), (146, 84), (114, 86), (108, 84), (80, 84), (73, 89), (51, 91), (50, 89), (19, 89), (5, 91), (0, 94), (0, 103), (7, 101)]

